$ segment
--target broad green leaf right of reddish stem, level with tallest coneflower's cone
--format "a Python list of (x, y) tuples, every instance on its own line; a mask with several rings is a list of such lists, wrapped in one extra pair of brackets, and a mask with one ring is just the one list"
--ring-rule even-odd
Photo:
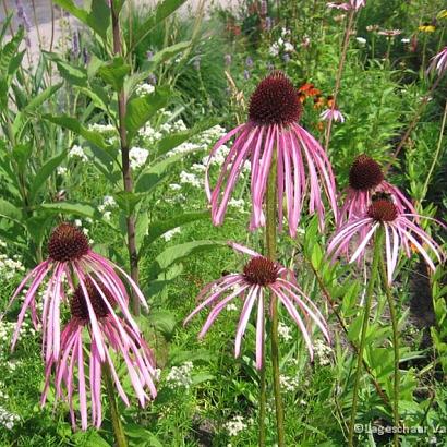
[(169, 94), (169, 88), (157, 88), (150, 95), (133, 98), (128, 102), (125, 125), (130, 140), (159, 109), (166, 107)]

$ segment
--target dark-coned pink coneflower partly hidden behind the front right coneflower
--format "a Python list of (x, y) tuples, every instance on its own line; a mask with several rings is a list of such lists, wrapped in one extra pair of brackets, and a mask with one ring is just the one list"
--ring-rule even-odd
[(394, 184), (385, 180), (380, 165), (366, 154), (359, 155), (349, 170), (349, 186), (338, 213), (338, 227), (363, 216), (374, 196), (386, 195), (396, 205), (399, 214), (416, 215), (412, 203)]

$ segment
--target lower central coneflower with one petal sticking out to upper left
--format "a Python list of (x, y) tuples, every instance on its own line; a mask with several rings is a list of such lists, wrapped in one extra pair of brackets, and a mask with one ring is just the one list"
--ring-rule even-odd
[(234, 341), (234, 357), (238, 358), (241, 352), (242, 337), (249, 324), (252, 310), (254, 306), (257, 306), (256, 367), (261, 370), (264, 352), (265, 298), (268, 297), (268, 293), (273, 293), (297, 323), (312, 359), (313, 345), (311, 334), (299, 311), (303, 314), (306, 322), (312, 319), (318, 326), (328, 341), (330, 341), (329, 333), (325, 318), (312, 300), (298, 287), (293, 273), (251, 249), (237, 243), (230, 243), (230, 245), (235, 251), (250, 255), (250, 262), (244, 266), (243, 273), (226, 275), (217, 281), (205, 286), (197, 297), (197, 300), (202, 301), (201, 304), (186, 317), (184, 324), (190, 322), (203, 309), (213, 306), (198, 334), (198, 338), (203, 338), (228, 304), (242, 300), (242, 311)]

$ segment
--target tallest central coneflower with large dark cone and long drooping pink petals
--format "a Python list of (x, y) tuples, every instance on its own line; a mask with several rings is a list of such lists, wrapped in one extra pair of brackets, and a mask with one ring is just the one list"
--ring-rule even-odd
[[(264, 78), (250, 99), (249, 121), (230, 131), (214, 146), (206, 169), (205, 190), (212, 205), (214, 225), (221, 225), (228, 202), (246, 160), (251, 162), (252, 215), (250, 229), (265, 225), (263, 202), (274, 157), (277, 161), (279, 225), (282, 226), (282, 200), (286, 196), (289, 232), (297, 233), (304, 202), (310, 214), (316, 213), (321, 228), (325, 208), (322, 192), (335, 210), (333, 169), (319, 143), (300, 124), (302, 105), (297, 89), (281, 72)], [(209, 185), (209, 166), (217, 150), (235, 136), (222, 165), (215, 189)]]

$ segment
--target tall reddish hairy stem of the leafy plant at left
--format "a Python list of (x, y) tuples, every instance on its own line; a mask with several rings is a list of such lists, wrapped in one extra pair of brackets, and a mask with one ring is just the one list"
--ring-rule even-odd
[[(118, 12), (113, 5), (111, 10), (112, 31), (113, 31), (113, 52), (116, 55), (122, 55), (122, 41), (120, 21)], [(128, 143), (128, 130), (125, 128), (125, 112), (126, 112), (126, 98), (123, 90), (118, 93), (118, 119), (119, 119), (119, 134), (121, 145), (121, 169), (125, 192), (133, 192), (132, 170), (129, 160), (129, 143)], [(131, 277), (138, 283), (138, 254), (136, 250), (135, 239), (135, 215), (130, 213), (126, 216), (126, 230), (128, 230), (128, 251), (131, 265)], [(140, 301), (136, 295), (132, 297), (132, 309), (135, 315), (140, 314)]]

